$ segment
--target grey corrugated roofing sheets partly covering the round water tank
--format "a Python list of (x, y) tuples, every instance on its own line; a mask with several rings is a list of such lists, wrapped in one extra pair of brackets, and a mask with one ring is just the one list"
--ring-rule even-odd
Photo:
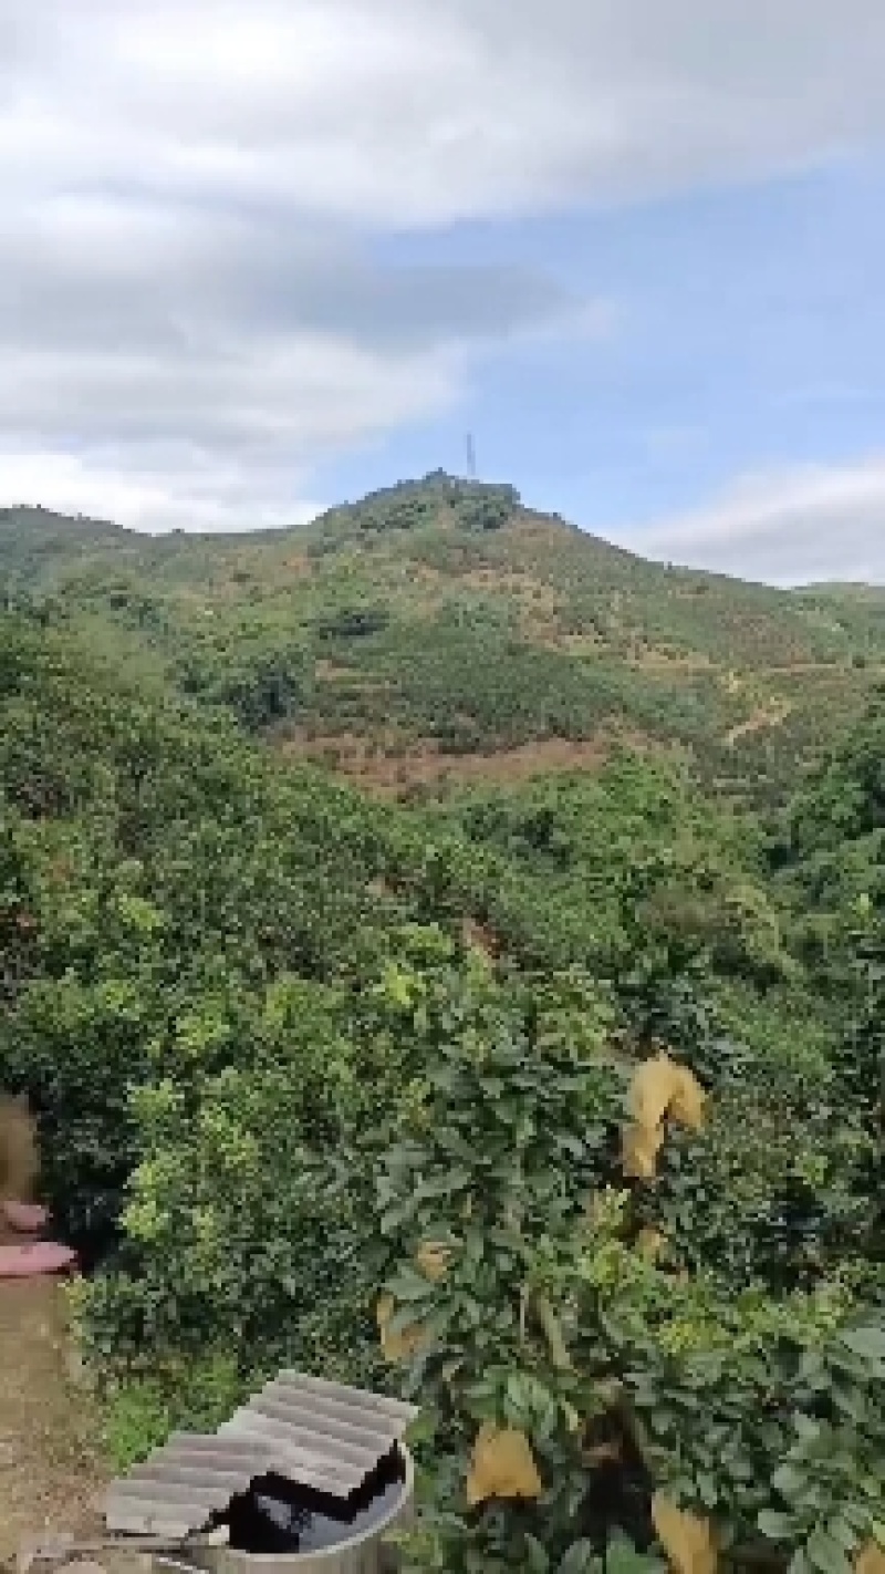
[(264, 1475), (349, 1497), (417, 1413), (412, 1404), (365, 1388), (281, 1371), (217, 1432), (173, 1432), (113, 1481), (107, 1527), (184, 1539)]

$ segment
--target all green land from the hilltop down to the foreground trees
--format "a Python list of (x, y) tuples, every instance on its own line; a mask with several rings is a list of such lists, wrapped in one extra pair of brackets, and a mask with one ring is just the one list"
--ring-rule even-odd
[(286, 1362), (420, 1404), (415, 1571), (880, 1574), (877, 598), (443, 475), (0, 570), (0, 1088), (115, 1464)]

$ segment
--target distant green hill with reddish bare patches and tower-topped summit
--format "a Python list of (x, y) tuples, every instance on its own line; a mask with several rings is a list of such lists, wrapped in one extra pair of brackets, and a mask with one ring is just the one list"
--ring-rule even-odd
[(885, 597), (644, 559), (442, 472), (310, 526), (145, 537), (0, 515), (0, 582), (294, 756), (413, 793), (618, 740), (778, 796), (885, 672)]

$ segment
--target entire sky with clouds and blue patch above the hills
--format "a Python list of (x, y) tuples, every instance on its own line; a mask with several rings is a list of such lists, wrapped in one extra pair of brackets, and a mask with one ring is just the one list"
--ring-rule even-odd
[(0, 0), (0, 502), (885, 581), (882, 0)]

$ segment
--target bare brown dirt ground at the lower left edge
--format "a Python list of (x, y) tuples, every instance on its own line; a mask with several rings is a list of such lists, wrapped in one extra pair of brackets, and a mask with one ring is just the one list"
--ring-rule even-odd
[(0, 1563), (25, 1536), (101, 1530), (97, 1426), (68, 1350), (61, 1284), (0, 1280)]

